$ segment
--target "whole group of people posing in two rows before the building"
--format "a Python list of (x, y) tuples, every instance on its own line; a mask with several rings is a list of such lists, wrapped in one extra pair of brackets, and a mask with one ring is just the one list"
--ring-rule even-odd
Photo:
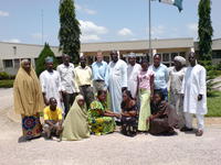
[(147, 132), (173, 135), (175, 129), (193, 130), (192, 114), (198, 121), (196, 135), (203, 134), (206, 69), (197, 64), (194, 53), (189, 54), (190, 66), (176, 56), (170, 68), (161, 63), (160, 54), (154, 56), (152, 65), (147, 58), (138, 64), (134, 53), (127, 64), (117, 51), (110, 52), (109, 64), (98, 51), (91, 67), (85, 56), (80, 57), (77, 67), (69, 55), (62, 58), (55, 70), (53, 58), (46, 57), (46, 69), (39, 78), (28, 59), (21, 62), (13, 86), (14, 110), (22, 117), (25, 139), (44, 134), (48, 139), (82, 140), (112, 133), (117, 124), (128, 136)]

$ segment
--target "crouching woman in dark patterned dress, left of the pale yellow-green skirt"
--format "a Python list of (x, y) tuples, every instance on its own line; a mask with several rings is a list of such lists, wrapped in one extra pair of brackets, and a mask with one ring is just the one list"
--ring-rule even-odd
[(128, 136), (137, 134), (137, 105), (129, 90), (124, 90), (122, 101), (122, 133)]

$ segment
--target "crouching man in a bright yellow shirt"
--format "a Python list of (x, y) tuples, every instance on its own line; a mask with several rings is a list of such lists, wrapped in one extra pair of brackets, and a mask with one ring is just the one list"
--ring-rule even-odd
[(62, 110), (56, 107), (55, 98), (50, 98), (49, 106), (44, 108), (43, 131), (48, 139), (53, 134), (59, 138), (62, 132)]

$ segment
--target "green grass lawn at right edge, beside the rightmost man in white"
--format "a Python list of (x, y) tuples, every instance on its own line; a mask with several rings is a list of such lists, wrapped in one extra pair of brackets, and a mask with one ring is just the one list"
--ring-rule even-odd
[(212, 97), (208, 97), (207, 117), (221, 117), (221, 91), (214, 91)]

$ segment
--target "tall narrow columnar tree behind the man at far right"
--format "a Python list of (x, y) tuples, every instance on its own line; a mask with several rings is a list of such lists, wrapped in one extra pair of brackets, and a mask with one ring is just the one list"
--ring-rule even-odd
[(199, 59), (203, 64), (211, 65), (212, 61), (212, 24), (211, 24), (211, 0), (200, 0), (198, 6), (199, 24)]

